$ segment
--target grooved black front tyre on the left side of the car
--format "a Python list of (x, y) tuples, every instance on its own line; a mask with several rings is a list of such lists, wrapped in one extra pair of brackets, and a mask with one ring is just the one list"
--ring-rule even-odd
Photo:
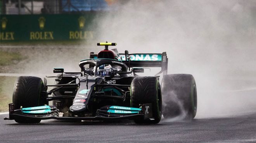
[[(12, 94), (12, 102), (14, 109), (43, 106), (47, 104), (45, 94), (46, 88), (43, 81), (39, 77), (20, 76), (17, 78), (14, 91)], [(17, 123), (39, 123), (41, 119), (16, 118)]]

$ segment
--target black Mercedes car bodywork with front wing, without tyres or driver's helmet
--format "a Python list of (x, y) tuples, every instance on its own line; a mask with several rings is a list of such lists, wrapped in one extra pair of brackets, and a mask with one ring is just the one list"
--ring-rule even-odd
[[(133, 119), (139, 116), (150, 118), (145, 113), (143, 104), (142, 110), (137, 114), (114, 114), (107, 112), (110, 106), (131, 107), (130, 104), (130, 85), (132, 80), (138, 75), (136, 72), (143, 72), (143, 67), (161, 67), (161, 71), (156, 74), (167, 74), (168, 59), (166, 52), (161, 54), (161, 61), (131, 61), (128, 52), (125, 59), (103, 59), (92, 58), (80, 61), (81, 72), (64, 72), (64, 69), (56, 68), (54, 77), (56, 84), (45, 87), (54, 87), (46, 94), (47, 101), (53, 101), (52, 112), (64, 113), (62, 117), (59, 114), (23, 114), (20, 110), (14, 110), (13, 104), (9, 104), (9, 118), (40, 118), (40, 119), (78, 119), (78, 120), (112, 120), (112, 119)], [(93, 57), (93, 53), (91, 56)], [(102, 64), (121, 67), (121, 71), (113, 71), (111, 75), (101, 76), (97, 72), (97, 67)], [(140, 68), (134, 68), (140, 67)], [(93, 70), (94, 68), (94, 70)], [(53, 95), (53, 96), (48, 96)]]

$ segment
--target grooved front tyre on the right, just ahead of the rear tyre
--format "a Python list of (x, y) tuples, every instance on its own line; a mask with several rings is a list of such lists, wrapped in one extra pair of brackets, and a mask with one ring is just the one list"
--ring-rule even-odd
[(157, 124), (162, 116), (161, 87), (156, 77), (135, 77), (131, 82), (131, 107), (139, 108), (139, 104), (151, 103), (154, 120), (135, 119), (137, 124)]

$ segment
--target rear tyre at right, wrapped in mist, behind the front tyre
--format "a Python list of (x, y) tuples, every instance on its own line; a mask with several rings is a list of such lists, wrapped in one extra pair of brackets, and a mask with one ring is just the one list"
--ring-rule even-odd
[(197, 89), (191, 74), (168, 74), (162, 80), (163, 116), (194, 119), (197, 111)]

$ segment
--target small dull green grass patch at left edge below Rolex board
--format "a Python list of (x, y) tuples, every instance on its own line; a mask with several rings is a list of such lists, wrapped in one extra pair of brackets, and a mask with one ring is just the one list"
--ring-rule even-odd
[(23, 57), (19, 53), (0, 50), (0, 66), (8, 66), (13, 64), (14, 61), (21, 59), (23, 59)]

